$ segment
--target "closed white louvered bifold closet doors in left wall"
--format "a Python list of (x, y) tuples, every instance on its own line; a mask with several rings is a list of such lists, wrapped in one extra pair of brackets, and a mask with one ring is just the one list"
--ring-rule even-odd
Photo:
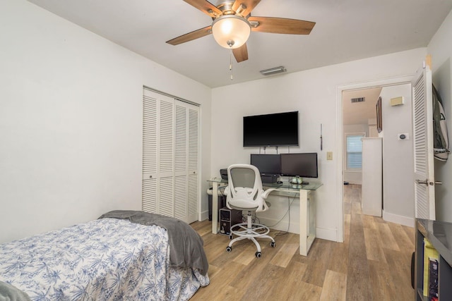
[(198, 112), (143, 89), (143, 211), (198, 220)]

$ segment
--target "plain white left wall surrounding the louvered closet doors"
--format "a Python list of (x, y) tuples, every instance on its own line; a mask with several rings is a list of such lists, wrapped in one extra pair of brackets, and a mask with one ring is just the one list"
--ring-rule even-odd
[(141, 209), (143, 85), (201, 104), (206, 191), (210, 88), (25, 0), (0, 23), (0, 242)]

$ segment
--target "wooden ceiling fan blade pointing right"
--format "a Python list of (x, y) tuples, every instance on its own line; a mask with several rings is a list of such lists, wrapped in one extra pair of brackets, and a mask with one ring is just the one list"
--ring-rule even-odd
[(295, 20), (287, 18), (254, 17), (248, 18), (249, 22), (258, 22), (258, 27), (251, 30), (258, 32), (284, 33), (289, 35), (309, 35), (315, 22)]

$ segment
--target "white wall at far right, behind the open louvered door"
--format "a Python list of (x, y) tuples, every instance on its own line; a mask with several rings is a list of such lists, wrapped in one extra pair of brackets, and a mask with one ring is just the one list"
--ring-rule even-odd
[[(430, 41), (427, 50), (432, 55), (433, 83), (444, 102), (448, 122), (449, 141), (452, 141), (452, 12)], [(449, 143), (451, 145), (451, 143)], [(443, 185), (435, 185), (436, 219), (452, 222), (452, 158), (440, 162), (435, 160), (435, 180)]]

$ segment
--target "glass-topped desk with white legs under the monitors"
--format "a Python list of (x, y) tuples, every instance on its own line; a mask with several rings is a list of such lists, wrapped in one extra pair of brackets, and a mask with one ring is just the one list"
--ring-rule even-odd
[[(218, 233), (218, 187), (227, 185), (227, 180), (212, 178), (212, 233)], [(307, 256), (312, 242), (316, 239), (316, 199), (315, 192), (321, 187), (321, 183), (309, 183), (308, 185), (295, 185), (284, 182), (262, 183), (263, 189), (275, 188), (275, 192), (296, 192), (299, 194), (299, 254)], [(273, 192), (270, 192), (272, 194)]]

